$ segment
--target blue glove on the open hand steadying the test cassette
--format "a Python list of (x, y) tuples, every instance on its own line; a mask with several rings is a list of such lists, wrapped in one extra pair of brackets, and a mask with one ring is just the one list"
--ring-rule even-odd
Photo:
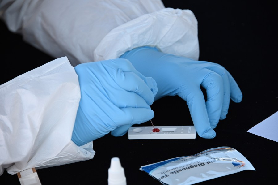
[[(175, 95), (183, 98), (200, 137), (214, 138), (213, 128), (219, 119), (226, 118), (230, 98), (234, 102), (242, 100), (234, 78), (219, 64), (164, 54), (147, 46), (128, 51), (120, 58), (128, 59), (137, 71), (154, 78), (158, 87), (155, 100)], [(200, 86), (206, 89), (207, 101)]]

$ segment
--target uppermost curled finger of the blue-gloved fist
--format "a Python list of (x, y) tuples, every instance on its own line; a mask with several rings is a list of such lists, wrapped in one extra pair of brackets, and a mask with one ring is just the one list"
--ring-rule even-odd
[(115, 81), (121, 88), (137, 93), (148, 105), (154, 102), (157, 85), (153, 78), (139, 77), (134, 72), (124, 72), (121, 69), (118, 69), (116, 76)]

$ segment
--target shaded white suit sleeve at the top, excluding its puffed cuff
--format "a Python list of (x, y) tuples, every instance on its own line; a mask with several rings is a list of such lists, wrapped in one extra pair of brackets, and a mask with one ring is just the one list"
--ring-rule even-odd
[(112, 29), (163, 8), (160, 0), (3, 0), (0, 18), (30, 45), (76, 66), (103, 60), (94, 50)]

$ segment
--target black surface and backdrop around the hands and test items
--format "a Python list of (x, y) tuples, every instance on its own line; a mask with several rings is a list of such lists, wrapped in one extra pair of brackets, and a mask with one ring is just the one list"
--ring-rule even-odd
[[(243, 93), (241, 103), (231, 101), (227, 118), (213, 139), (128, 140), (109, 134), (94, 141), (95, 157), (88, 161), (37, 170), (42, 184), (107, 184), (112, 157), (119, 157), (127, 184), (161, 184), (140, 166), (229, 146), (242, 153), (256, 171), (245, 170), (199, 184), (272, 184), (277, 180), (278, 143), (247, 132), (278, 110), (277, 6), (275, 1), (163, 1), (166, 7), (190, 9), (198, 20), (200, 60), (224, 66)], [(54, 58), (24, 43), (2, 22), (1, 78), (3, 84)], [(179, 97), (164, 97), (151, 105), (154, 125), (192, 125)], [(141, 126), (150, 126), (150, 122)], [(6, 172), (0, 184), (19, 184)]]

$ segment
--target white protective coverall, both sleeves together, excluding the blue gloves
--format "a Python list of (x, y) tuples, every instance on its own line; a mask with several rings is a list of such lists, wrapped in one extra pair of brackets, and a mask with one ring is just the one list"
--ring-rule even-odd
[(144, 45), (199, 58), (192, 11), (165, 8), (160, 0), (2, 0), (0, 18), (59, 58), (1, 86), (0, 175), (5, 168), (15, 174), (93, 158), (92, 143), (84, 149), (70, 141), (80, 92), (65, 60), (76, 66), (113, 59)]

